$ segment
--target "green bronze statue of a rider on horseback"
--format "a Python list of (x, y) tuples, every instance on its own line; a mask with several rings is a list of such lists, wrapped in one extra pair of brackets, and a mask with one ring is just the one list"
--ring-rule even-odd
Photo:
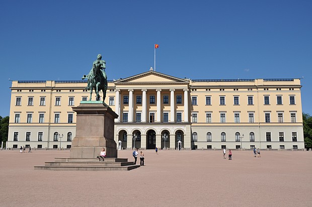
[(105, 72), (106, 68), (106, 62), (105, 60), (102, 60), (102, 55), (98, 54), (97, 60), (93, 62), (92, 68), (88, 75), (84, 75), (82, 79), (88, 80), (88, 85), (86, 89), (90, 90), (90, 98), (89, 101), (91, 101), (92, 98), (92, 91), (93, 89), (97, 93), (96, 100), (100, 100), (100, 94), (99, 91), (103, 91), (103, 102), (106, 97), (106, 90), (107, 90), (107, 76)]

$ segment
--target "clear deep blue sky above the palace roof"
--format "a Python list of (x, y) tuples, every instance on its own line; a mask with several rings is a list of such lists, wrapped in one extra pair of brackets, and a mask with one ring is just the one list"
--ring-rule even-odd
[(0, 116), (12, 80), (80, 80), (98, 53), (108, 79), (299, 78), (312, 114), (312, 1), (1, 1)]

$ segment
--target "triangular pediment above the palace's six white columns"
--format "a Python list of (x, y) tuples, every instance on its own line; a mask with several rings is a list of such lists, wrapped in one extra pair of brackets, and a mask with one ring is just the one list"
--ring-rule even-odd
[(188, 80), (177, 78), (174, 76), (166, 75), (163, 73), (148, 71), (144, 73), (140, 73), (137, 75), (133, 75), (131, 77), (123, 78), (115, 81), (115, 84), (118, 83), (188, 83)]

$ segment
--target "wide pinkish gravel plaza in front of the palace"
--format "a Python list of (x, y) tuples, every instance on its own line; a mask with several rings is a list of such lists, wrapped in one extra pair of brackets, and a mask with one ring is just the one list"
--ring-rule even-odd
[[(34, 166), (69, 150), (2, 150), (0, 206), (312, 205), (310, 151), (143, 152), (145, 166), (130, 171), (49, 171)], [(118, 157), (133, 160), (130, 150)]]

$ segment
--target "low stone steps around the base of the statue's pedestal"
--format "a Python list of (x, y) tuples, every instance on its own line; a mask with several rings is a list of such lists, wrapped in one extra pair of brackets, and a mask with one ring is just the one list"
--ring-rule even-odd
[(45, 162), (44, 166), (34, 166), (35, 170), (82, 170), (82, 171), (110, 171), (132, 170), (140, 167), (128, 162), (127, 158), (54, 158), (54, 162)]

